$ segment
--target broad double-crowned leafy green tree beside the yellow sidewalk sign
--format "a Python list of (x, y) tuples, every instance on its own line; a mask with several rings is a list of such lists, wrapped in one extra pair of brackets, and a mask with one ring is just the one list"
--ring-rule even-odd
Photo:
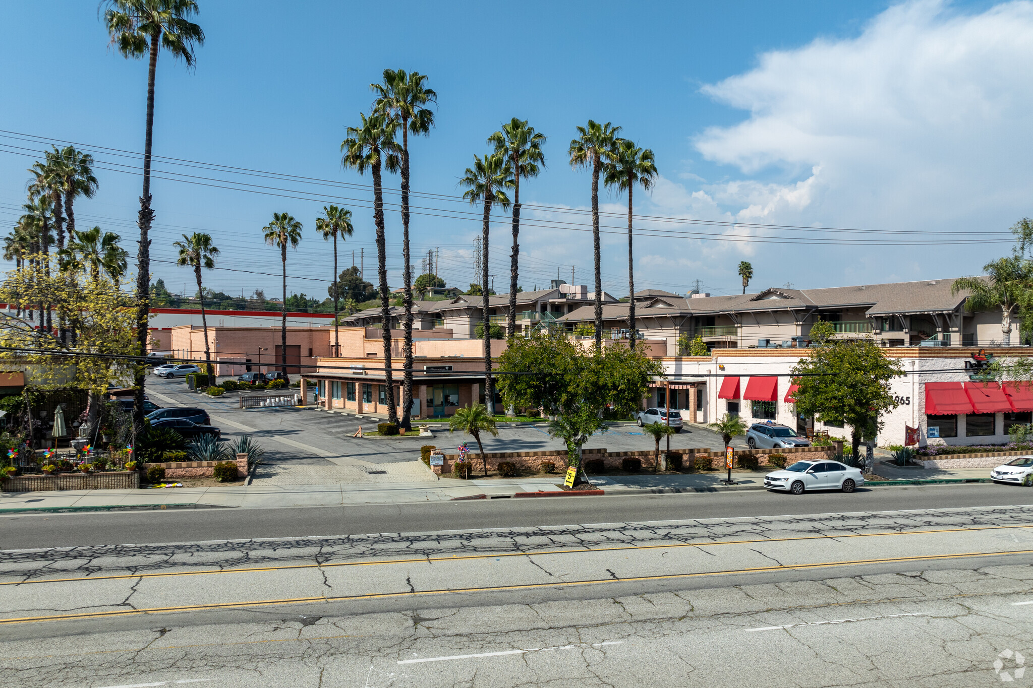
[(637, 348), (617, 345), (589, 353), (566, 337), (538, 334), (511, 339), (499, 356), (498, 369), (516, 373), (499, 378), (507, 405), (540, 406), (557, 416), (550, 434), (563, 439), (575, 466), (588, 438), (606, 431), (606, 405), (618, 417), (630, 416), (640, 407), (650, 381), (663, 374), (660, 363)]

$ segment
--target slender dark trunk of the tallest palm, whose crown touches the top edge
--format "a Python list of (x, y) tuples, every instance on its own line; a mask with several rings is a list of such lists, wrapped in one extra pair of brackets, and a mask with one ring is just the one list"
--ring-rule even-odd
[[(139, 251), (136, 254), (136, 348), (143, 356), (147, 352), (149, 331), (147, 321), (150, 315), (148, 297), (151, 289), (151, 223), (154, 222), (154, 210), (151, 209), (151, 150), (154, 142), (154, 77), (158, 70), (158, 47), (161, 30), (151, 34), (151, 59), (147, 70), (147, 128), (144, 134), (144, 189), (139, 196), (139, 214), (136, 224), (139, 226)], [(136, 366), (133, 375), (133, 411), (132, 431), (133, 444), (144, 435), (144, 384), (146, 382), (144, 366)]]

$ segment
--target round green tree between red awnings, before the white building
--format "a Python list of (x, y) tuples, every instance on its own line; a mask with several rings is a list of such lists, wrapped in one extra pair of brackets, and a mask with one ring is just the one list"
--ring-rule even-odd
[(871, 338), (834, 340), (812, 348), (791, 372), (796, 378), (796, 413), (850, 425), (851, 452), (857, 456), (862, 434), (874, 436), (879, 417), (897, 406), (889, 381), (904, 374)]

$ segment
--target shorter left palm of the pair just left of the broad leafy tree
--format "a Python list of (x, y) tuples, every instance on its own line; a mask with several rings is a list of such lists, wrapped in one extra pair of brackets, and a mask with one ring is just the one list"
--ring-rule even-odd
[(488, 284), (488, 234), (489, 223), (492, 219), (492, 205), (499, 204), (502, 209), (509, 207), (509, 197), (506, 189), (513, 186), (512, 167), (501, 153), (486, 154), (483, 158), (473, 156), (473, 167), (467, 167), (465, 176), (459, 181), (461, 187), (465, 187), (463, 198), (473, 205), (477, 201), (484, 202), (483, 224), (481, 226), (480, 238), (480, 299), (482, 302), (483, 323), (484, 323), (484, 403), (492, 415), (495, 415), (495, 382), (492, 380), (492, 340), (491, 324), (492, 319), (489, 314), (489, 284)]

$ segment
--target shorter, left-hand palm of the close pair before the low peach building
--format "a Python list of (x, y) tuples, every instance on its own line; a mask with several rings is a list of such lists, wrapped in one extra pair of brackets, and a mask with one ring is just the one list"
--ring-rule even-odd
[(398, 423), (395, 401), (395, 378), (390, 357), (390, 294), (387, 288), (387, 243), (384, 235), (384, 197), (381, 170), (398, 171), (401, 167), (401, 148), (395, 140), (398, 122), (386, 114), (373, 112), (359, 114), (363, 124), (348, 127), (348, 138), (341, 142), (341, 164), (359, 174), (370, 170), (373, 175), (373, 224), (377, 232), (377, 272), (380, 277), (380, 317), (384, 346), (384, 385), (387, 392), (387, 422)]

